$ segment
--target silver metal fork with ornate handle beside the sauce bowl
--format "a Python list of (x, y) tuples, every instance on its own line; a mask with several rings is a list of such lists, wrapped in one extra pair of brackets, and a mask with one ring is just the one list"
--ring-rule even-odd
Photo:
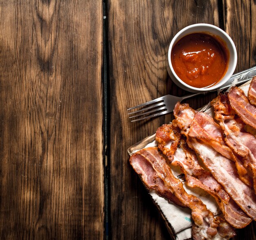
[[(245, 83), (245, 82), (251, 80), (253, 76), (256, 76), (256, 66), (249, 68), (247, 70), (244, 70), (243, 72), (238, 72), (237, 74), (232, 75), (231, 78), (229, 79), (229, 81), (227, 81), (227, 83), (225, 85), (220, 87), (219, 90), (224, 90), (225, 88), (228, 88), (233, 83), (233, 81), (236, 81), (235, 85), (240, 84), (240, 83)], [(135, 114), (135, 115), (129, 117), (132, 122), (140, 121), (140, 120), (144, 120), (144, 119), (148, 119), (148, 118), (152, 118), (152, 117), (157, 117), (157, 116), (172, 112), (175, 107), (175, 104), (178, 101), (181, 102), (184, 99), (196, 96), (198, 94), (205, 95), (206, 93), (207, 92), (198, 92), (198, 93), (189, 94), (189, 95), (182, 96), (182, 97), (173, 96), (173, 95), (161, 96), (152, 101), (142, 103), (142, 104), (137, 105), (132, 108), (128, 108), (127, 111), (133, 110), (135, 108), (140, 108), (139, 110), (136, 110), (134, 112), (128, 112), (128, 115)], [(146, 115), (146, 116), (141, 117), (144, 115)], [(137, 118), (137, 117), (140, 117), (140, 118)]]

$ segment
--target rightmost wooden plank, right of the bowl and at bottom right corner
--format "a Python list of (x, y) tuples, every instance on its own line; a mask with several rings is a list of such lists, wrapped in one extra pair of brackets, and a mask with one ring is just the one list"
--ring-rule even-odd
[[(255, 1), (223, 0), (224, 28), (233, 39), (238, 62), (236, 72), (256, 65), (256, 15)], [(240, 229), (235, 239), (256, 240), (256, 224)]]

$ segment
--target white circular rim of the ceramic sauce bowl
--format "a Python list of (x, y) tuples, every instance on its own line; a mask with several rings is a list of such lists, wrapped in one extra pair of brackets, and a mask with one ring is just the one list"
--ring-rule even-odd
[[(172, 66), (172, 63), (171, 63), (171, 50), (173, 48), (173, 45), (174, 43), (176, 43), (177, 39), (180, 38), (180, 35), (183, 34), (185, 31), (189, 30), (189, 29), (193, 29), (195, 27), (209, 27), (209, 29), (215, 29), (217, 31), (219, 31), (221, 34), (223, 34), (227, 40), (229, 41), (230, 43), (230, 46), (231, 46), (231, 50), (232, 50), (232, 54), (234, 54), (234, 57), (231, 59), (232, 61), (230, 61), (230, 58), (229, 58), (229, 67), (227, 70), (229, 70), (229, 74), (227, 76), (224, 76), (222, 79), (220, 79), (220, 81), (218, 83), (216, 83), (215, 85), (211, 86), (211, 87), (202, 87), (202, 88), (199, 88), (199, 87), (192, 87), (191, 85), (187, 84), (187, 83), (184, 83), (176, 74), (176, 72), (174, 71), (173, 69), (173, 66)], [(207, 32), (205, 30), (202, 30), (202, 31), (199, 31), (199, 30), (196, 30), (194, 31), (195, 33), (196, 32)], [(190, 32), (188, 34), (191, 34), (193, 32)], [(209, 31), (209, 33), (211, 33)], [(218, 34), (214, 34), (216, 36), (219, 36)], [(186, 35), (184, 35), (186, 36)], [(183, 37), (183, 36), (182, 36)], [(225, 41), (225, 39), (223, 39), (221, 36), (219, 36), (222, 40)], [(227, 41), (225, 41), (227, 42)], [(228, 46), (227, 46), (228, 47)], [(228, 47), (229, 48), (229, 47)], [(229, 49), (229, 54), (231, 55), (231, 52), (230, 52), (230, 49)], [(183, 85), (186, 89), (185, 90), (192, 90), (193, 92), (206, 92), (206, 91), (212, 91), (212, 90), (217, 90), (220, 86), (222, 86), (223, 84), (225, 84), (229, 78), (232, 76), (232, 74), (234, 73), (235, 69), (236, 69), (236, 64), (237, 64), (237, 51), (236, 51), (236, 46), (233, 42), (233, 40), (231, 39), (231, 37), (225, 32), (223, 31), (221, 28), (215, 26), (215, 25), (212, 25), (212, 24), (208, 24), (208, 23), (196, 23), (196, 24), (192, 24), (192, 25), (189, 25), (187, 27), (184, 27), (183, 29), (181, 29), (180, 31), (177, 32), (177, 34), (175, 34), (175, 36), (173, 37), (173, 39), (171, 40), (171, 43), (169, 45), (169, 49), (168, 49), (168, 64), (169, 64), (169, 67), (171, 69), (171, 72), (172, 74), (174, 75), (175, 77), (175, 80), (177, 80), (181, 85)], [(225, 79), (225, 81), (222, 81), (223, 79)]]

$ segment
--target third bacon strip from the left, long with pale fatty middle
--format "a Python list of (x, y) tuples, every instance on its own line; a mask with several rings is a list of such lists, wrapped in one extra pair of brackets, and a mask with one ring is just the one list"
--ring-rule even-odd
[[(198, 154), (204, 165), (213, 177), (222, 184), (229, 196), (249, 217), (256, 220), (256, 195), (253, 189), (240, 180), (233, 161), (216, 151), (210, 145), (210, 142), (202, 141), (204, 138), (201, 137), (200, 121), (197, 121), (195, 117), (193, 119), (189, 117), (193, 115), (192, 112), (195, 112), (195, 110), (190, 108), (189, 105), (177, 103), (173, 123), (187, 136), (189, 147)], [(207, 125), (207, 128), (210, 130), (211, 126)]]

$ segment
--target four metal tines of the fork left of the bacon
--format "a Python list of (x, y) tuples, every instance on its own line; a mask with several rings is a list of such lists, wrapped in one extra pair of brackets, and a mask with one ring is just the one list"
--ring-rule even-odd
[(128, 108), (127, 111), (133, 110), (135, 108), (140, 108), (140, 109), (135, 110), (133, 112), (128, 112), (129, 115), (134, 114), (133, 116), (129, 117), (132, 122), (166, 114), (166, 110), (167, 110), (162, 97), (159, 97), (158, 99), (154, 99), (146, 103), (142, 103), (132, 108)]

